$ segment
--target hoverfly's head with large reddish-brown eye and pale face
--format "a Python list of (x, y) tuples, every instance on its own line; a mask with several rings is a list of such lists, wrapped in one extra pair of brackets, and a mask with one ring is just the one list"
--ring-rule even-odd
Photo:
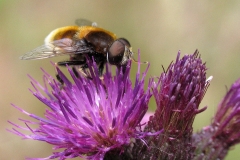
[(131, 45), (125, 38), (115, 40), (108, 49), (107, 60), (112, 65), (124, 65), (132, 56)]

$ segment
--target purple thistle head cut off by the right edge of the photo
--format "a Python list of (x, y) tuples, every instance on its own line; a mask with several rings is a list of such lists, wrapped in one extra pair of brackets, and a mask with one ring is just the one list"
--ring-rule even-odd
[(228, 150), (240, 142), (240, 79), (218, 105), (210, 126), (193, 136), (196, 160), (224, 159)]

